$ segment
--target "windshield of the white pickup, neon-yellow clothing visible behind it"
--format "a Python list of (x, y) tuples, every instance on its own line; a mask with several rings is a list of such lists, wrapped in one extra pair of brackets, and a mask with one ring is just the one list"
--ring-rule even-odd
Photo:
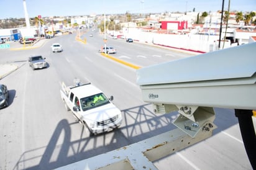
[(101, 105), (105, 105), (109, 103), (109, 100), (103, 93), (99, 93), (93, 96), (84, 97), (80, 99), (82, 110), (89, 110), (95, 107), (99, 107)]

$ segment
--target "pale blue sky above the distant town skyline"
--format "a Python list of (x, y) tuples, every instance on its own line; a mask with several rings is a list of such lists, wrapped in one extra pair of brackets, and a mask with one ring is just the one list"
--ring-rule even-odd
[[(0, 19), (24, 18), (24, 0), (0, 0)], [(223, 0), (25, 0), (30, 18), (154, 12), (216, 12)], [(256, 0), (230, 0), (231, 11), (256, 11)], [(224, 10), (228, 9), (224, 0)]]

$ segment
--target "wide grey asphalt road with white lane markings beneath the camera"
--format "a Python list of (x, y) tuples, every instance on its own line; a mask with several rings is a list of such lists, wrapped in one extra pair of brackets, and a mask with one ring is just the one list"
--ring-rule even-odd
[[(89, 37), (93, 34), (93, 37)], [(155, 115), (142, 101), (136, 71), (104, 57), (98, 50), (103, 35), (88, 30), (81, 35), (48, 39), (40, 48), (1, 50), (0, 63), (20, 68), (1, 79), (10, 92), (10, 105), (0, 110), (0, 169), (54, 169), (75, 163), (140, 140), (172, 130), (177, 113)], [(58, 42), (62, 53), (52, 53)], [(139, 43), (108, 37), (107, 45), (117, 48), (112, 56), (138, 66), (149, 66), (191, 56)], [(27, 58), (42, 55), (48, 68), (32, 70)], [(60, 99), (62, 82), (91, 82), (122, 111), (119, 129), (89, 137)], [(244, 150), (237, 118), (232, 109), (215, 108), (217, 129), (213, 136), (196, 145), (155, 161), (158, 169), (252, 169)], [(255, 121), (254, 121), (255, 123)], [(96, 160), (98, 161), (98, 160)]]

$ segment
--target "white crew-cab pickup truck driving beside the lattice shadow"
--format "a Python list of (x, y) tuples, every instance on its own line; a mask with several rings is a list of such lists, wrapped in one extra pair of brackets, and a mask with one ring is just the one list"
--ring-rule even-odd
[[(74, 81), (75, 82), (75, 81)], [(122, 123), (121, 111), (112, 104), (110, 99), (91, 83), (66, 86), (62, 83), (60, 96), (66, 110), (73, 112), (75, 117), (89, 130), (89, 135), (109, 132)]]

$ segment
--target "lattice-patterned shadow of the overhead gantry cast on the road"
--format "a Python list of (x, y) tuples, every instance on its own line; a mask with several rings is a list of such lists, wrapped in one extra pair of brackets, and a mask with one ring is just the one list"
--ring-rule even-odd
[[(39, 163), (34, 166), (25, 167), (25, 169), (59, 168), (86, 158), (91, 158), (98, 154), (116, 150), (122, 146), (127, 146), (176, 128), (171, 122), (178, 116), (177, 112), (155, 115), (152, 109), (149, 109), (149, 105), (150, 104), (145, 104), (122, 110), (122, 126), (109, 133), (89, 137), (88, 135), (85, 136), (85, 129), (81, 126), (80, 139), (74, 141), (71, 141), (71, 133), (74, 133), (71, 132), (71, 125), (78, 122), (68, 123), (66, 119), (60, 120), (48, 145), (45, 148), (26, 151), (21, 156), (14, 169), (22, 169), (21, 167), (29, 164), (28, 161), (33, 159), (39, 159)], [(222, 120), (217, 120), (214, 122), (217, 126), (220, 126), (221, 130), (237, 123), (231, 109), (224, 111), (226, 112), (225, 114), (220, 114), (223, 110), (217, 109), (216, 117), (229, 117), (229, 121), (223, 122)], [(234, 117), (234, 119), (230, 119), (231, 117)], [(128, 123), (127, 120), (130, 119), (134, 121)], [(217, 133), (221, 130), (217, 130)], [(89, 146), (89, 143), (94, 143), (93, 148), (91, 145)], [(100, 146), (98, 146), (98, 144), (100, 144)], [(43, 150), (43, 154), (35, 156), (35, 158), (28, 158), (29, 155), (34, 155), (31, 154), (31, 152), (37, 152), (36, 150)]]

